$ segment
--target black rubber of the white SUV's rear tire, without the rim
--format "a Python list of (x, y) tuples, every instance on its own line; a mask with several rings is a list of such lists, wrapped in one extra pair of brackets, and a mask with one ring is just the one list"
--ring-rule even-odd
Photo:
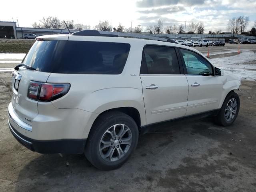
[[(108, 161), (104, 160), (100, 154), (100, 141), (103, 136), (103, 134), (108, 130), (110, 127), (112, 127), (115, 124), (125, 124), (130, 128), (131, 134), (132, 134), (132, 142), (130, 145), (130, 148), (120, 158), (116, 161)], [(102, 114), (96, 122), (94, 122), (90, 134), (88, 136), (88, 140), (86, 142), (86, 147), (84, 154), (86, 158), (98, 169), (100, 170), (114, 170), (116, 168), (119, 168), (122, 166), (128, 158), (131, 156), (132, 152), (136, 149), (136, 146), (138, 144), (138, 126), (136, 122), (127, 114), (118, 112), (118, 111), (112, 111), (112, 112), (106, 112)], [(108, 148), (110, 150), (112, 146)], [(121, 148), (121, 144), (120, 144)], [(116, 152), (117, 150), (114, 149)]]

